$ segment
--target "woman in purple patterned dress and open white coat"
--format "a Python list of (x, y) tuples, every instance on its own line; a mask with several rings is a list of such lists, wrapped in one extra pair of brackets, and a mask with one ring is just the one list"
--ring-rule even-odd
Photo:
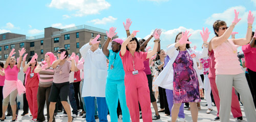
[(189, 32), (180, 32), (176, 36), (175, 43), (167, 47), (170, 60), (163, 71), (159, 74), (155, 84), (164, 88), (173, 89), (174, 106), (172, 109), (172, 121), (176, 121), (182, 103), (189, 102), (193, 121), (198, 119), (197, 102), (200, 102), (199, 88), (203, 87), (199, 75), (197, 62), (199, 58), (207, 56), (208, 28), (203, 28), (201, 33), (204, 47), (203, 51), (190, 48)]

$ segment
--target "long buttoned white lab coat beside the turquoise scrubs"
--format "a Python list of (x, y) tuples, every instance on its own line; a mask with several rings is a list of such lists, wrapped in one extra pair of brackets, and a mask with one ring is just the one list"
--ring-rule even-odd
[(98, 48), (93, 52), (90, 48), (89, 43), (80, 48), (80, 53), (84, 58), (82, 97), (105, 97), (108, 73), (106, 56), (101, 49)]

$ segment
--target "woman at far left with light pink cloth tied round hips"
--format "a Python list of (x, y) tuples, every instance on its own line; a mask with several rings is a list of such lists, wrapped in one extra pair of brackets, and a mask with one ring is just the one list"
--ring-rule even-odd
[[(5, 85), (3, 88), (3, 115), (1, 118), (1, 121), (5, 120), (5, 112), (8, 107), (8, 103), (10, 102), (12, 111), (16, 111), (16, 101), (15, 98), (18, 95), (21, 95), (25, 92), (26, 88), (24, 87), (22, 81), (18, 80), (18, 72), (20, 69), (20, 65), (22, 64), (22, 55), (26, 52), (24, 48), (19, 51), (19, 60), (18, 63), (16, 63), (14, 55), (16, 52), (14, 52), (15, 49), (12, 49), (10, 52), (8, 58), (6, 59), (4, 69), (5, 69)], [(15, 112), (12, 112), (15, 113)], [(17, 115), (12, 114), (12, 120), (16, 121)]]

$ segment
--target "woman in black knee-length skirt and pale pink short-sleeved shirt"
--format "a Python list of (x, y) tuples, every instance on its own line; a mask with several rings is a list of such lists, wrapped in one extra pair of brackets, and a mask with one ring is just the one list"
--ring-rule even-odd
[(69, 73), (70, 71), (75, 71), (76, 66), (74, 57), (71, 57), (70, 62), (68, 61), (68, 55), (69, 53), (65, 48), (60, 48), (58, 49), (58, 60), (55, 60), (52, 63), (54, 75), (51, 92), (48, 99), (48, 101), (50, 102), (50, 122), (53, 121), (53, 113), (58, 97), (60, 97), (61, 104), (68, 114), (68, 121), (73, 121), (67, 99), (69, 95)]

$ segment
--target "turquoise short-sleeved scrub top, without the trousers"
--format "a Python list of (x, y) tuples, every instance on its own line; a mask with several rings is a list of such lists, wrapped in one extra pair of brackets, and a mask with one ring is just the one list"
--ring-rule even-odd
[[(108, 75), (106, 76), (107, 79), (112, 79), (112, 80), (124, 79), (123, 64), (122, 64), (122, 59), (119, 53), (120, 51), (116, 53), (113, 50), (110, 50), (109, 56), (106, 56), (106, 58), (109, 59)], [(112, 65), (113, 65), (113, 69), (111, 69)]]

